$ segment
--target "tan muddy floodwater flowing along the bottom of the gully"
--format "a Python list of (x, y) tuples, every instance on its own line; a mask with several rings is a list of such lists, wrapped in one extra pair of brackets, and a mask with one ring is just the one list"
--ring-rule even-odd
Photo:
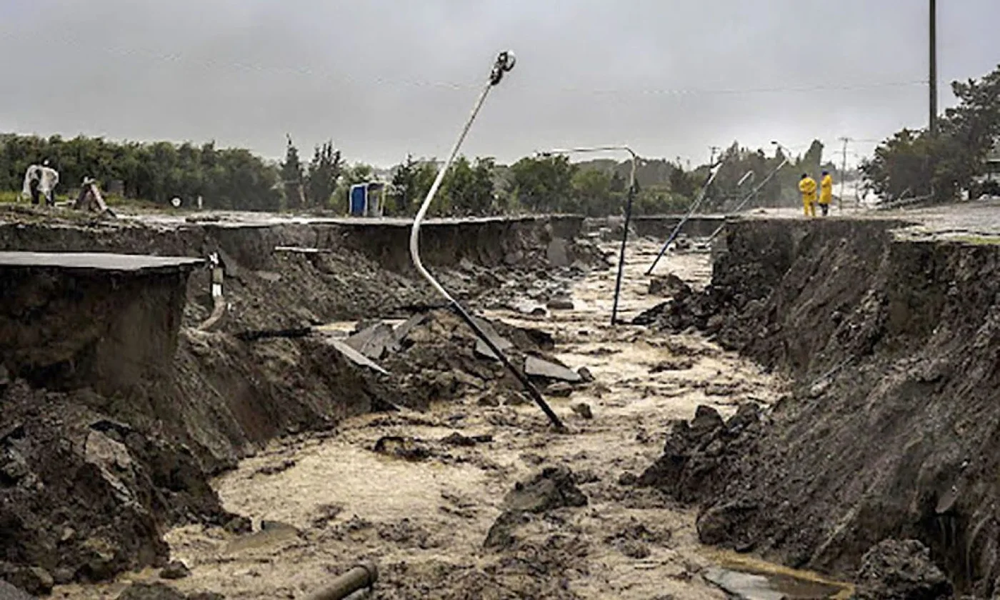
[[(630, 250), (625, 318), (662, 301), (647, 294), (643, 275), (655, 251), (655, 244), (641, 241)], [(710, 276), (710, 259), (668, 255), (659, 272), (700, 287)], [(552, 433), (531, 404), (469, 399), (424, 413), (352, 418), (322, 435), (276, 442), (214, 481), (225, 508), (250, 517), (256, 533), (203, 526), (170, 531), (172, 558), (192, 571), (171, 585), (227, 598), (300, 598), (351, 565), (371, 561), (381, 573), (379, 598), (721, 599), (727, 582), (743, 585), (747, 597), (781, 597), (781, 590), (767, 595), (768, 577), (741, 583), (738, 570), (706, 553), (692, 509), (626, 483), (662, 452), (672, 419), (691, 418), (699, 404), (723, 415), (740, 402), (768, 404), (783, 382), (699, 334), (610, 327), (614, 274), (599, 270), (577, 281), (572, 310), (488, 315), (550, 332), (563, 362), (594, 375), (594, 385), (549, 398), (571, 433)], [(580, 403), (592, 419), (573, 410)], [(454, 432), (490, 441), (420, 461), (372, 450), (383, 436), (437, 441)], [(484, 549), (505, 494), (545, 465), (572, 469), (587, 505), (526, 526), (519, 532), (525, 546), (516, 553)], [(156, 578), (148, 570), (102, 586), (57, 588), (55, 596), (114, 598), (131, 581)], [(839, 588), (809, 588), (816, 590), (832, 596)]]

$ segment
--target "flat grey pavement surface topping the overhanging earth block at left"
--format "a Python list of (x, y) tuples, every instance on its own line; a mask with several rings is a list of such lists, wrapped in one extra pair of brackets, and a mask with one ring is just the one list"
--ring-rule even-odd
[(44, 267), (88, 271), (138, 272), (196, 267), (205, 261), (182, 256), (103, 252), (0, 252), (0, 269)]

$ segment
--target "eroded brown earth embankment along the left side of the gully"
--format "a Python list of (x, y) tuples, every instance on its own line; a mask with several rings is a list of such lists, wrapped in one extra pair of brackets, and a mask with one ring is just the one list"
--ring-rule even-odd
[[(504, 302), (518, 292), (496, 285), (504, 271), (527, 285), (529, 274), (540, 269), (570, 269), (577, 258), (590, 264), (599, 258), (572, 237), (559, 236), (573, 234), (572, 223), (530, 219), (450, 227), (447, 234), (434, 234), (441, 240), (432, 245), (428, 262), (446, 285), (477, 303)], [(398, 253), (385, 256), (389, 240), (381, 230), (52, 219), (0, 224), (2, 250), (202, 258), (219, 252), (229, 303), (217, 330), (198, 330), (212, 308), (210, 274), (193, 274), (186, 293), (181, 289), (175, 298), (183, 304), (182, 318), (174, 311), (176, 352), (159, 357), (162, 372), (156, 378), (128, 389), (97, 389), (86, 377), (48, 369), (75, 364), (72, 357), (47, 351), (51, 340), (35, 340), (31, 348), (4, 347), (4, 363), (8, 355), (26, 352), (32, 361), (30, 368), (10, 373), (11, 383), (0, 384), (5, 388), (0, 390), (0, 579), (42, 593), (53, 580), (99, 580), (162, 564), (168, 550), (160, 534), (167, 527), (247, 526), (221, 509), (207, 480), (268, 440), (328, 429), (386, 401), (419, 406), (434, 400), (427, 390), (414, 393), (401, 374), (358, 367), (322, 332), (254, 341), (241, 336), (345, 319), (406, 317), (415, 306), (438, 303)], [(392, 243), (398, 231), (393, 230)], [(493, 242), (501, 254), (485, 250)], [(472, 262), (477, 258), (486, 264)], [(89, 300), (65, 306), (65, 322), (84, 323), (85, 315), (73, 317), (73, 311), (93, 306)], [(101, 306), (113, 311), (117, 305)]]

